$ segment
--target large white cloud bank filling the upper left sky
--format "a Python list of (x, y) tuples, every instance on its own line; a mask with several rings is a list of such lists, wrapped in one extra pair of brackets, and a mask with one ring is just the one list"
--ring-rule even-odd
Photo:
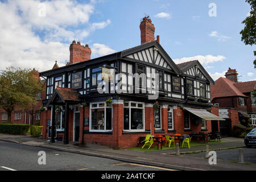
[[(69, 60), (72, 40), (85, 42), (83, 39), (93, 31), (111, 23), (110, 20), (89, 22), (93, 3), (71, 0), (44, 3), (46, 16), (38, 16), (42, 8), (38, 6), (39, 0), (0, 2), (0, 69), (14, 66), (46, 71), (53, 67), (55, 60), (63, 66)], [(102, 50), (97, 49), (99, 55)]]

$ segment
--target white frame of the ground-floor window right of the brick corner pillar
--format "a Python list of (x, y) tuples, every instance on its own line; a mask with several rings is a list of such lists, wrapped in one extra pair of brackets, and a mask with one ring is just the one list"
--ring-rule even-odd
[[(125, 103), (128, 103), (128, 106), (125, 106)], [(131, 106), (131, 104), (136, 104), (135, 107)], [(138, 107), (138, 104), (142, 104), (142, 107)], [(123, 109), (129, 108), (129, 130), (124, 130), (123, 131), (128, 131), (128, 132), (142, 132), (145, 131), (145, 104), (144, 102), (134, 102), (134, 101), (128, 101), (128, 102), (123, 102)], [(133, 109), (142, 109), (142, 123), (143, 123), (143, 129), (142, 130), (131, 130), (131, 108)]]

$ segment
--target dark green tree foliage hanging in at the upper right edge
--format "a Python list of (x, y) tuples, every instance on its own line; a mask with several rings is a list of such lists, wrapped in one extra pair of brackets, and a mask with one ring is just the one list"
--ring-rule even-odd
[[(256, 0), (246, 0), (245, 2), (249, 3), (251, 11), (250, 15), (242, 21), (245, 24), (245, 28), (243, 28), (240, 34), (242, 35), (242, 41), (246, 45), (253, 46), (256, 44)], [(254, 51), (254, 56), (256, 56), (256, 51)], [(253, 63), (256, 69), (256, 59)]]

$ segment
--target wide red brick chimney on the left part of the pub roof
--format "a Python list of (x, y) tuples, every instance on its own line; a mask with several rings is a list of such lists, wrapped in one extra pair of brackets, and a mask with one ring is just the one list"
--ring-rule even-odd
[(69, 59), (69, 63), (67, 64), (88, 61), (90, 60), (90, 55), (92, 53), (88, 44), (86, 44), (85, 46), (81, 46), (81, 43), (80, 42), (76, 43), (76, 40), (73, 40), (72, 44), (69, 46), (69, 51), (70, 51), (70, 59)]

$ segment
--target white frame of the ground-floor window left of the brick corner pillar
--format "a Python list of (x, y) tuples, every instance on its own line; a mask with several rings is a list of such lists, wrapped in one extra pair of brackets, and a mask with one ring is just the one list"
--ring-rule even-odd
[[(92, 107), (93, 104), (97, 104), (97, 107)], [(99, 104), (104, 104), (104, 107), (99, 107)], [(104, 116), (105, 116), (105, 121), (104, 121), (104, 130), (93, 130), (91, 129), (92, 127), (92, 109), (102, 109), (104, 108)], [(112, 122), (112, 129), (111, 130), (106, 130), (106, 108), (111, 108), (111, 122)], [(93, 102), (90, 103), (90, 122), (89, 122), (89, 132), (109, 132), (113, 131), (113, 107), (112, 106), (106, 106), (106, 102)]]

